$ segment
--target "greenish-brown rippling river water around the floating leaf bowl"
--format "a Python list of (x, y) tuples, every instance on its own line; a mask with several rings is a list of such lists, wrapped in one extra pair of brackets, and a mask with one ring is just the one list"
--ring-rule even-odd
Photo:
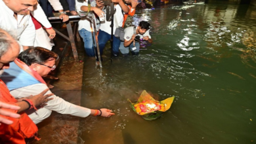
[[(152, 45), (140, 56), (85, 58), (81, 105), (116, 115), (80, 122), (81, 143), (255, 143), (256, 7), (198, 3), (137, 10), (127, 26), (148, 20)], [(142, 90), (175, 96), (161, 118), (133, 112)]]

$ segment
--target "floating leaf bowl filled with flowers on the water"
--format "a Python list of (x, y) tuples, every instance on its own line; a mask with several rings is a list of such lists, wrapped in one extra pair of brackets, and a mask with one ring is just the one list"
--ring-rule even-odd
[(137, 103), (132, 103), (129, 99), (128, 100), (131, 102), (131, 108), (135, 113), (145, 120), (155, 120), (156, 118), (160, 118), (163, 112), (171, 107), (174, 98), (173, 96), (163, 101), (156, 101), (146, 90), (143, 90)]

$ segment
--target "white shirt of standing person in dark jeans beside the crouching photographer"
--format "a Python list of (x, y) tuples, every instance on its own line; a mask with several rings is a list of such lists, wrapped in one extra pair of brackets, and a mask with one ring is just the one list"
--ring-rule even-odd
[[(117, 24), (119, 27), (123, 26), (123, 14), (122, 14), (122, 9), (120, 5), (115, 5), (116, 8), (116, 13), (114, 14), (114, 17), (116, 17)], [(105, 14), (105, 23), (100, 24), (100, 30), (105, 31), (106, 33), (111, 35), (111, 27), (110, 27), (111, 21), (108, 22), (106, 21), (106, 14)], [(113, 26), (113, 35), (116, 31), (116, 22), (114, 20), (114, 26)]]

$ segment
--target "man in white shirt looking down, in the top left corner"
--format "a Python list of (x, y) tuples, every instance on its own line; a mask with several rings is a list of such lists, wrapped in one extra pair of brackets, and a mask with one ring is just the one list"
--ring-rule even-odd
[[(33, 46), (35, 27), (33, 26), (30, 14), (27, 13), (29, 10), (33, 10), (37, 1), (29, 1), (28, 3), (26, 0), (9, 0), (9, 3), (5, 3), (4, 1), (0, 0), (0, 27), (7, 31), (13, 31), (23, 48)], [(26, 5), (24, 6), (24, 4)], [(20, 47), (20, 51), (23, 51), (22, 46)]]

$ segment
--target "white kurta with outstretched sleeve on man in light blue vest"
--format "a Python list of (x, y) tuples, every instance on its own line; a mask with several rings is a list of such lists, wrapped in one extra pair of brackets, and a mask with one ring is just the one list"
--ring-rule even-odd
[[(39, 92), (43, 92), (43, 90), (47, 88), (48, 87), (46, 84), (39, 83), (12, 90), (10, 93), (12, 94), (12, 96), (14, 96), (14, 98), (24, 98), (30, 95), (35, 96), (39, 94)], [(51, 93), (51, 90), (49, 90), (46, 94)], [(45, 107), (38, 109), (38, 111), (31, 109), (27, 113), (28, 117), (30, 117), (33, 122), (35, 122), (35, 124), (38, 124), (45, 118), (49, 117), (51, 115), (51, 111), (56, 111), (58, 113), (69, 114), (83, 118), (89, 116), (91, 113), (91, 109), (87, 109), (79, 105), (74, 105), (58, 96), (53, 95), (50, 98), (53, 99), (51, 101), (48, 101)]]

